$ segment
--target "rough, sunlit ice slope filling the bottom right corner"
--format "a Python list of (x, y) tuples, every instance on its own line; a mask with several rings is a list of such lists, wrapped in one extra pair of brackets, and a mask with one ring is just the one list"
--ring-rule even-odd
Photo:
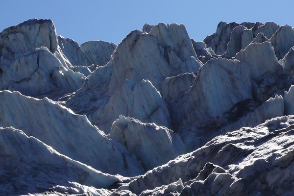
[(294, 116), (216, 137), (126, 183), (136, 195), (291, 195)]

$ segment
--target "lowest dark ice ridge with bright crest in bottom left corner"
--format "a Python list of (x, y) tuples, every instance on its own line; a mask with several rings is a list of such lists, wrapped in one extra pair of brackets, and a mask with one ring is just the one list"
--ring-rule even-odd
[(57, 185), (78, 194), (83, 192), (78, 184), (101, 188), (126, 179), (99, 172), (12, 127), (0, 128), (0, 156), (0, 195), (42, 193)]

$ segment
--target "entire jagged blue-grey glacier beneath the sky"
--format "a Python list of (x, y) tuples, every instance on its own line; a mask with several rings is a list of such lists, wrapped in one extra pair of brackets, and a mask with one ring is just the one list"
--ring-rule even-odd
[(0, 196), (290, 196), (294, 29), (143, 25), (79, 45), (0, 33)]

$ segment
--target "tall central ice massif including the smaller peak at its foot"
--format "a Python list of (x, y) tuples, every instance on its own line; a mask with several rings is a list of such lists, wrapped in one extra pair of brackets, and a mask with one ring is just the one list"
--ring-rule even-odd
[(184, 25), (158, 24), (149, 33), (134, 30), (66, 106), (86, 114), (105, 133), (121, 114), (169, 127), (169, 111), (160, 94), (162, 82), (170, 76), (197, 73), (201, 66)]

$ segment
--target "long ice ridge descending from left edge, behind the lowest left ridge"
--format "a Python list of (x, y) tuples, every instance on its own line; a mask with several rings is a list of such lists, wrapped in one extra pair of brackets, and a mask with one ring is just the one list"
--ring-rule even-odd
[[(141, 174), (136, 159), (120, 144), (109, 140), (85, 115), (75, 115), (48, 98), (29, 98), (18, 92), (1, 91), (0, 99), (0, 110), (6, 111), (0, 114), (0, 127), (21, 129), (26, 135), (101, 172)], [(108, 159), (116, 159), (116, 164), (109, 164)]]

